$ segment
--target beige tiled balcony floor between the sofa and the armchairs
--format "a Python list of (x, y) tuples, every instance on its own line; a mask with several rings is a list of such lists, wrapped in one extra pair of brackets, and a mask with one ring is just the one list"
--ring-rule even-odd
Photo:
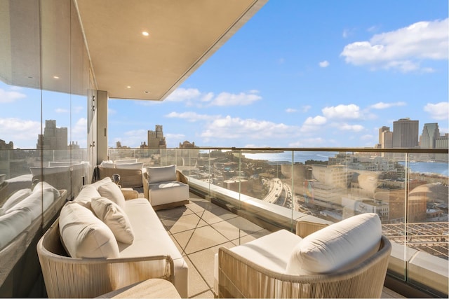
[[(220, 246), (233, 247), (270, 233), (192, 193), (189, 204), (157, 214), (189, 265), (189, 298), (214, 298), (214, 256)], [(384, 288), (382, 298), (403, 297)]]

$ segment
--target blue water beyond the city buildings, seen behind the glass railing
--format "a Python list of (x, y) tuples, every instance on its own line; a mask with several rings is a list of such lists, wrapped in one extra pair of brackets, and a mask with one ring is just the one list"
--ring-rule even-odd
[[(303, 151), (294, 152), (284, 151), (283, 153), (244, 153), (245, 157), (254, 160), (266, 160), (269, 162), (291, 162), (293, 154), (294, 162), (304, 163), (307, 160), (328, 161), (330, 157), (335, 157), (335, 152), (316, 152)], [(399, 162), (405, 165), (405, 162)], [(445, 162), (410, 162), (408, 165), (412, 172), (426, 174), (443, 174), (449, 175), (449, 164)]]

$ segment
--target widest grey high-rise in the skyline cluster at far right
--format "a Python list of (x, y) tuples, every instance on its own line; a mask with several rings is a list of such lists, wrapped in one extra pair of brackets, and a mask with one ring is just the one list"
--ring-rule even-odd
[(393, 148), (416, 148), (419, 146), (419, 120), (401, 118), (393, 122)]

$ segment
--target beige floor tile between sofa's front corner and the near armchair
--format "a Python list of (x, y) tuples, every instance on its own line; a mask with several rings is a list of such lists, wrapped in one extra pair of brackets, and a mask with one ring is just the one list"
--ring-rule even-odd
[(189, 254), (189, 258), (195, 265), (196, 269), (199, 270), (203, 279), (206, 280), (210, 288), (213, 288), (214, 284), (214, 265), (215, 265), (215, 253), (218, 253), (220, 246), (225, 246), (227, 248), (234, 247), (232, 242), (227, 242), (225, 244), (220, 244), (196, 253)]

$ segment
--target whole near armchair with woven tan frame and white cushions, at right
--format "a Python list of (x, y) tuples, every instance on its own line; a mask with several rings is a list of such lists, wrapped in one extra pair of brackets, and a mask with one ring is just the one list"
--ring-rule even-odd
[[(300, 228), (297, 232), (314, 228)], [(361, 214), (311, 235), (279, 230), (216, 259), (220, 298), (380, 298), (391, 252), (377, 214)]]

